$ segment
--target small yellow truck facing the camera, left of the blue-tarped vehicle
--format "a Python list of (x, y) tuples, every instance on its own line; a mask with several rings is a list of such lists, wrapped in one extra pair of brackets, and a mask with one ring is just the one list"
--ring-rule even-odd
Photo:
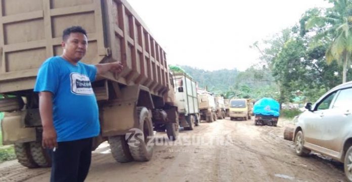
[(253, 103), (250, 99), (231, 99), (230, 100), (230, 119), (251, 119)]

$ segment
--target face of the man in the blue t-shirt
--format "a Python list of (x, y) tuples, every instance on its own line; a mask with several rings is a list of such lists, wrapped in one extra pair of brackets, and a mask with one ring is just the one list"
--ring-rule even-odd
[(64, 49), (63, 55), (70, 59), (69, 61), (78, 62), (85, 55), (87, 42), (87, 37), (83, 33), (70, 33), (66, 41), (61, 43)]

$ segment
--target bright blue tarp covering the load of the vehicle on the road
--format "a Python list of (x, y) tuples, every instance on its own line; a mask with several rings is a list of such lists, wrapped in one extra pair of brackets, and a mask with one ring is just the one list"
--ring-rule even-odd
[(254, 104), (254, 114), (280, 116), (280, 104), (272, 98), (261, 98)]

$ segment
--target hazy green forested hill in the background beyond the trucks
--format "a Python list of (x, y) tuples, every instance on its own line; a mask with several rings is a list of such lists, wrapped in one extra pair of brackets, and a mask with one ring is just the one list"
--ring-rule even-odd
[(192, 76), (200, 88), (226, 98), (275, 97), (277, 87), (269, 69), (250, 67), (245, 71), (222, 69), (206, 71), (190, 66), (179, 66)]

